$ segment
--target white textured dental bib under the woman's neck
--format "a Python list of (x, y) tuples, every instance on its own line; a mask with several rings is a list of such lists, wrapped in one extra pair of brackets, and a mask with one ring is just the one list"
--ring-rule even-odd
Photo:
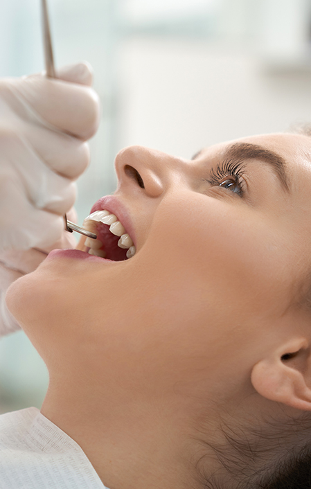
[(39, 409), (0, 416), (0, 489), (107, 489), (82, 448)]

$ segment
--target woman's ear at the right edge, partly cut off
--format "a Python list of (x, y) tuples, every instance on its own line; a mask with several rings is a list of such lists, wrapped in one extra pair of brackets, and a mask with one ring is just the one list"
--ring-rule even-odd
[(251, 383), (269, 400), (311, 411), (311, 358), (307, 339), (292, 339), (260, 360), (251, 372)]

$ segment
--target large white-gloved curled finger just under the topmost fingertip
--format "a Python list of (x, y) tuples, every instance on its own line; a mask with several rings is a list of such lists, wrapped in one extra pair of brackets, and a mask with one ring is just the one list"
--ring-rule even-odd
[(96, 133), (100, 103), (94, 89), (77, 83), (52, 80), (41, 74), (18, 78), (10, 83), (21, 104), (26, 101), (48, 125), (82, 141), (87, 141)]

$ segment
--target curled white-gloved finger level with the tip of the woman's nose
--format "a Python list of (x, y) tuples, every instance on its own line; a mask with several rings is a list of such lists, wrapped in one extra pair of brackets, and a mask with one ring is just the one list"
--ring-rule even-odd
[(38, 157), (62, 176), (77, 179), (89, 165), (88, 143), (29, 123), (24, 125), (23, 132)]

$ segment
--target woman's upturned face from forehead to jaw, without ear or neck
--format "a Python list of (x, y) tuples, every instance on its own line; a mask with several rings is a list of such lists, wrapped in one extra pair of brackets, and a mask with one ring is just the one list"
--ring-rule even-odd
[(111, 202), (130, 216), (135, 256), (52, 254), (11, 287), (9, 308), (51, 369), (95, 363), (154, 395), (193, 389), (211, 369), (215, 382), (242, 371), (303, 314), (294, 302), (311, 262), (310, 157), (311, 139), (296, 134), (215, 145), (191, 161), (126, 148)]

